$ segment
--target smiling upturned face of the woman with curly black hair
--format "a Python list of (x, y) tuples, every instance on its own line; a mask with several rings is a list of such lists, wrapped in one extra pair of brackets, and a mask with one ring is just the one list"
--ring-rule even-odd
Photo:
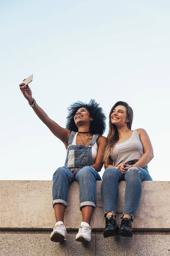
[(74, 116), (74, 122), (77, 126), (82, 124), (89, 125), (92, 120), (87, 108), (79, 108)]

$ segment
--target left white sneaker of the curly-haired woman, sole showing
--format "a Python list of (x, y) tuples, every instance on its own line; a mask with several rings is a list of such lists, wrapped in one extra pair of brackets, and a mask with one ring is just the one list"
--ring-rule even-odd
[(61, 241), (66, 241), (66, 236), (67, 236), (67, 231), (65, 228), (65, 225), (63, 224), (62, 221), (58, 221), (54, 227), (53, 227), (53, 232), (51, 233), (50, 239), (53, 242), (61, 242)]

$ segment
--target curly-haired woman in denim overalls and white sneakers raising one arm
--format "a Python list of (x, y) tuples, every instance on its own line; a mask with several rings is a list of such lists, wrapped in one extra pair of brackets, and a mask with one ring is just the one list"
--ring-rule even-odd
[(101, 180), (98, 172), (103, 166), (103, 155), (107, 139), (105, 114), (94, 99), (86, 104), (75, 102), (68, 108), (66, 129), (51, 120), (37, 105), (30, 87), (20, 84), (23, 96), (28, 100), (37, 116), (50, 131), (61, 140), (67, 150), (65, 165), (59, 167), (53, 175), (53, 207), (56, 224), (51, 233), (51, 241), (66, 240), (66, 228), (63, 224), (65, 208), (68, 206), (68, 188), (76, 180), (79, 183), (80, 210), (82, 222), (76, 240), (91, 241), (91, 215), (96, 200), (96, 180)]

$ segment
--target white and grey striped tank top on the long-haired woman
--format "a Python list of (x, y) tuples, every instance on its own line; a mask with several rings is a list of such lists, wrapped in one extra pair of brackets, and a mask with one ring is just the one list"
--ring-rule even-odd
[(143, 145), (136, 129), (128, 140), (116, 143), (111, 153), (111, 159), (113, 160), (113, 165), (118, 166), (125, 161), (136, 160), (135, 162), (137, 162), (143, 154)]

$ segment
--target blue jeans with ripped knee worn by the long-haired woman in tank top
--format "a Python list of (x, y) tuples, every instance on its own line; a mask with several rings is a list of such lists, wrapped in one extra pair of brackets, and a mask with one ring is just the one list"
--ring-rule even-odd
[(121, 180), (125, 180), (126, 189), (123, 215), (129, 214), (134, 220), (136, 209), (141, 198), (142, 180), (152, 180), (146, 167), (138, 167), (138, 169), (139, 170), (129, 169), (125, 174), (122, 174), (122, 172), (115, 168), (105, 169), (101, 187), (105, 215), (108, 212), (113, 212), (116, 216), (116, 204), (119, 194), (118, 183)]

